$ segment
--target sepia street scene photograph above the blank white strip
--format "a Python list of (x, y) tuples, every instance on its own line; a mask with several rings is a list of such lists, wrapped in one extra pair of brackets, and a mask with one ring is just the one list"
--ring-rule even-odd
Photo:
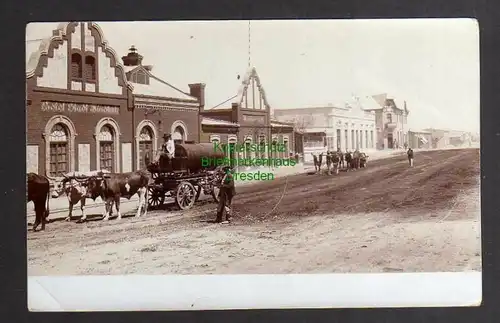
[(29, 277), (481, 273), (475, 20), (25, 41)]

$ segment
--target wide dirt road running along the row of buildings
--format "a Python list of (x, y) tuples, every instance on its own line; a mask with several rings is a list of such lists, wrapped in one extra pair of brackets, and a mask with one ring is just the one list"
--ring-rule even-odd
[[(481, 270), (479, 150), (420, 152), (238, 189), (215, 205), (28, 232), (29, 275)], [(132, 215), (132, 213), (130, 213)]]

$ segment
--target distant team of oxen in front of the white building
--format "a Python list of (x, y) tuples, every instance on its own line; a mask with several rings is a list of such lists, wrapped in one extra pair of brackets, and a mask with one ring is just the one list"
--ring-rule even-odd
[(365, 168), (368, 161), (368, 155), (360, 152), (359, 150), (355, 150), (352, 153), (350, 151), (342, 153), (340, 149), (337, 151), (328, 150), (326, 153), (320, 153), (319, 155), (312, 154), (312, 156), (316, 173), (321, 173), (323, 156), (325, 156), (328, 175), (331, 175), (332, 171), (335, 174), (338, 174), (341, 168), (345, 169), (346, 171)]

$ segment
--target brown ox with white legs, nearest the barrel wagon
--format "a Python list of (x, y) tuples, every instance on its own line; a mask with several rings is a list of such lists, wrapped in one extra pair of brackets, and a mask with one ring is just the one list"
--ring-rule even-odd
[(145, 171), (139, 170), (130, 173), (111, 173), (101, 176), (93, 176), (88, 179), (87, 197), (96, 199), (102, 196), (105, 203), (105, 215), (103, 220), (108, 220), (113, 207), (113, 202), (118, 213), (118, 219), (122, 218), (120, 212), (120, 198), (129, 199), (135, 194), (139, 195), (139, 206), (136, 217), (147, 214), (146, 194), (149, 176)]

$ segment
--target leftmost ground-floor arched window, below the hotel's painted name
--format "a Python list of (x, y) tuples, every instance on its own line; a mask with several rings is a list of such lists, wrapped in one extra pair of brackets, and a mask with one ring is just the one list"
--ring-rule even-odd
[(58, 123), (50, 132), (50, 176), (62, 176), (69, 172), (69, 138), (66, 127)]

